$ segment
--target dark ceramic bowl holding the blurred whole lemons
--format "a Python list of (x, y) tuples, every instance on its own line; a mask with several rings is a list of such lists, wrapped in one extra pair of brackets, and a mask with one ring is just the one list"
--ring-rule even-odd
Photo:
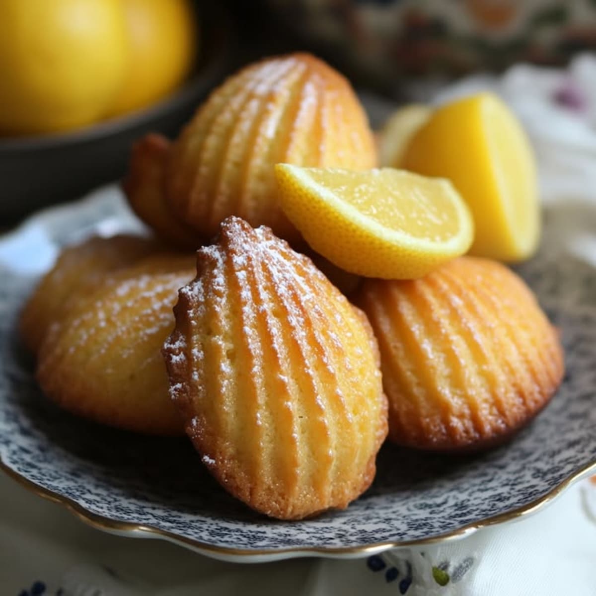
[(200, 10), (200, 58), (178, 91), (144, 110), (64, 134), (0, 138), (0, 226), (68, 201), (126, 170), (132, 143), (147, 132), (175, 135), (230, 67), (229, 19), (217, 3)]

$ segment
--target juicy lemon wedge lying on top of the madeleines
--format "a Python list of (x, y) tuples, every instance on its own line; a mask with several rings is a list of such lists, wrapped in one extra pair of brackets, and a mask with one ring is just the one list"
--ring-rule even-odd
[(451, 182), (403, 170), (277, 164), (281, 207), (313, 250), (351, 273), (423, 277), (465, 253), (474, 225)]

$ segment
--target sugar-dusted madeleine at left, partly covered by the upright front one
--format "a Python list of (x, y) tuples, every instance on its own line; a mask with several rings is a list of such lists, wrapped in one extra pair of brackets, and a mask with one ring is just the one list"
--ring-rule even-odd
[(39, 350), (37, 378), (52, 401), (97, 422), (182, 434), (161, 349), (194, 256), (158, 254), (113, 272), (73, 300)]

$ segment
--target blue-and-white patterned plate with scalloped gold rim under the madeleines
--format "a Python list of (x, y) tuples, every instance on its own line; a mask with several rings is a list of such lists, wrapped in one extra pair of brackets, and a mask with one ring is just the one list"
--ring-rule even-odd
[(108, 188), (41, 213), (0, 241), (0, 463), (86, 522), (228, 560), (358, 557), (514, 519), (596, 471), (596, 271), (560, 249), (548, 222), (541, 253), (519, 272), (566, 349), (567, 374), (550, 405), (510, 442), (480, 454), (385, 445), (373, 486), (344, 511), (301, 522), (266, 519), (224, 492), (187, 440), (137, 436), (66, 414), (36, 385), (15, 332), (18, 311), (60, 246), (138, 227)]

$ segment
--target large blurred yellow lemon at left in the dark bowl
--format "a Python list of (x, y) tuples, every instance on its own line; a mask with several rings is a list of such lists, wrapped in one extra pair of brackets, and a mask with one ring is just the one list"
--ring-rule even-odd
[(0, 132), (63, 131), (100, 119), (129, 60), (121, 0), (2, 0)]

